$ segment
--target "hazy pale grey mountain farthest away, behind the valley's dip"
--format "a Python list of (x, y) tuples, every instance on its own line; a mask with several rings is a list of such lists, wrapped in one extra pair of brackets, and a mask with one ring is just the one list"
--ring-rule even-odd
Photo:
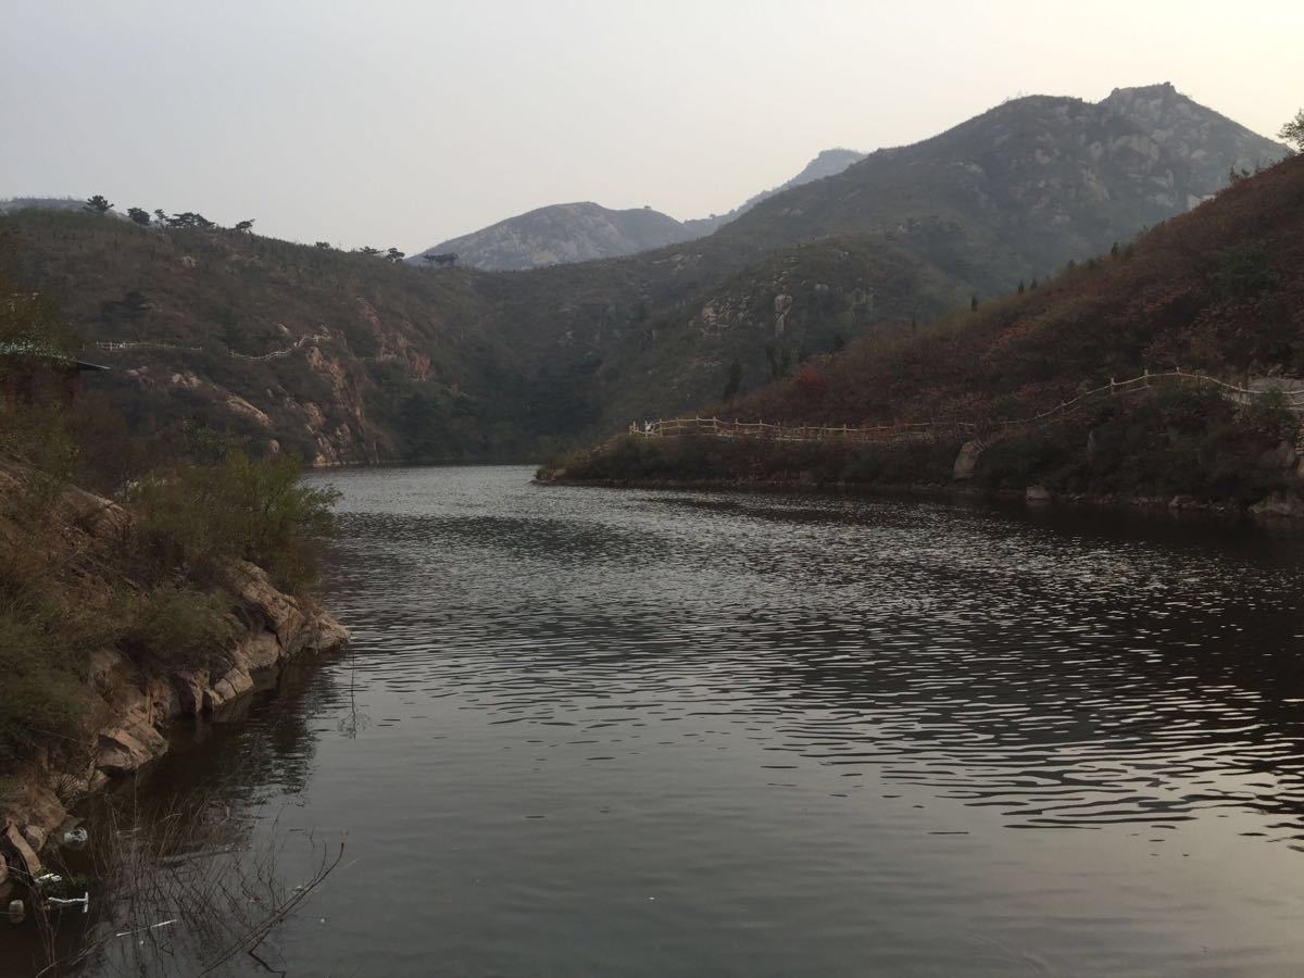
[[(863, 153), (853, 150), (824, 150), (788, 183), (763, 190), (728, 214), (679, 222), (651, 207), (610, 210), (592, 202), (554, 203), (441, 241), (421, 254), (454, 252), (460, 265), (485, 271), (520, 271), (636, 254), (705, 237), (776, 193), (840, 173), (863, 158)], [(420, 254), (409, 262), (424, 263)]]

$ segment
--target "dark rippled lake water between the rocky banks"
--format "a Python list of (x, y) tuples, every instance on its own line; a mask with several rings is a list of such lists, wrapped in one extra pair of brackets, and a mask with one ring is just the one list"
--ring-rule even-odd
[(1304, 973), (1299, 536), (528, 477), (322, 477), (353, 656), (145, 788), (347, 832), (291, 974)]

